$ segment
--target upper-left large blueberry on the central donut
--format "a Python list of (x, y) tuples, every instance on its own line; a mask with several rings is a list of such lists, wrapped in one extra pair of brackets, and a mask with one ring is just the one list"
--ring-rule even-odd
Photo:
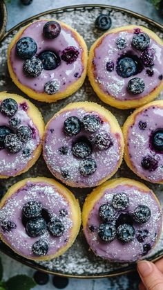
[(81, 122), (79, 118), (72, 116), (64, 121), (64, 132), (68, 136), (75, 136), (81, 131)]

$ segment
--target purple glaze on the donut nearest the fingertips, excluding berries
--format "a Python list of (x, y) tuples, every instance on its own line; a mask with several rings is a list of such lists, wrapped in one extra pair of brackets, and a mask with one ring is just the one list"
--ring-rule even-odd
[[(117, 211), (117, 217), (122, 212), (132, 213), (133, 210), (140, 204), (148, 205), (151, 210), (151, 218), (145, 224), (133, 224), (135, 231), (146, 229), (149, 234), (144, 239), (143, 243), (137, 241), (136, 237), (132, 242), (122, 244), (117, 238), (113, 242), (102, 242), (102, 240), (97, 235), (97, 230), (91, 232), (89, 226), (93, 225), (99, 227), (103, 223), (98, 215), (99, 207), (104, 203), (111, 203), (113, 199), (113, 194), (125, 192), (129, 198), (129, 206), (126, 210)], [(90, 211), (88, 215), (88, 222), (86, 228), (84, 228), (84, 235), (86, 240), (90, 245), (90, 248), (94, 251), (96, 255), (103, 257), (104, 259), (112, 260), (114, 262), (135, 262), (142, 257), (143, 245), (150, 244), (151, 247), (154, 246), (158, 236), (160, 235), (160, 230), (162, 227), (162, 212), (159, 204), (157, 203), (155, 197), (151, 191), (144, 192), (131, 185), (117, 185), (115, 188), (108, 189), (104, 191), (103, 196), (95, 203), (93, 210)], [(149, 252), (148, 252), (149, 253)]]

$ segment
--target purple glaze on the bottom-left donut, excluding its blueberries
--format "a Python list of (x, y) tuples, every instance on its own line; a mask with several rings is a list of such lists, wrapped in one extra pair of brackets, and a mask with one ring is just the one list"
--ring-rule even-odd
[[(66, 217), (59, 217), (63, 222), (66, 231), (61, 237), (53, 237), (48, 230), (44, 235), (39, 237), (29, 237), (26, 233), (26, 228), (23, 226), (22, 208), (28, 201), (40, 201), (44, 208), (53, 215), (59, 217), (59, 210), (66, 209), (68, 215)], [(4, 232), (0, 226), (0, 232), (3, 239), (21, 255), (26, 257), (36, 257), (32, 253), (32, 244), (38, 239), (42, 238), (48, 242), (49, 250), (47, 255), (55, 255), (57, 251), (63, 246), (66, 246), (70, 238), (70, 228), (73, 226), (73, 221), (70, 217), (70, 204), (66, 198), (55, 188), (46, 182), (27, 181), (26, 185), (17, 190), (12, 197), (7, 199), (5, 205), (0, 210), (0, 221), (6, 219), (14, 221), (17, 228), (11, 232)]]

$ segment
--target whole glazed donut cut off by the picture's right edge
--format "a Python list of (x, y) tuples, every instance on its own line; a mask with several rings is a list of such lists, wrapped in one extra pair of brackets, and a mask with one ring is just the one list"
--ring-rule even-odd
[(163, 100), (135, 110), (123, 133), (128, 167), (142, 179), (163, 183)]

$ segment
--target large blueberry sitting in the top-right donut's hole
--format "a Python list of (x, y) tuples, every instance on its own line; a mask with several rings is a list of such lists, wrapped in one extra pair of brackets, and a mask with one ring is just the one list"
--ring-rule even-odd
[(131, 57), (123, 57), (117, 61), (116, 71), (122, 78), (129, 78), (137, 73), (137, 64)]

